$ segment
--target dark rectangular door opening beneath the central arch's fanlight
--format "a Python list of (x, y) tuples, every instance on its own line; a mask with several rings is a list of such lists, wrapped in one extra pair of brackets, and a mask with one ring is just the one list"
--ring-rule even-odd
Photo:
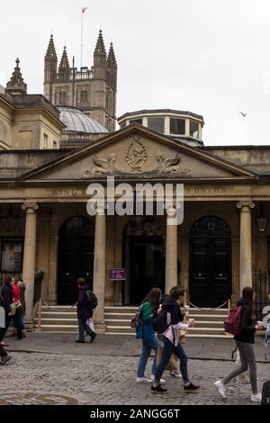
[(151, 288), (164, 291), (162, 238), (130, 238), (130, 304), (139, 304)]

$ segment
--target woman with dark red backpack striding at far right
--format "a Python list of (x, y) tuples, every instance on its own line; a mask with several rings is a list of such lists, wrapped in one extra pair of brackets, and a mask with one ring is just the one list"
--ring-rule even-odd
[(243, 289), (242, 298), (237, 302), (236, 307), (231, 311), (225, 320), (225, 330), (234, 335), (240, 356), (240, 365), (223, 379), (214, 383), (220, 396), (226, 398), (225, 385), (238, 374), (242, 374), (249, 368), (250, 383), (252, 389), (251, 401), (261, 402), (262, 395), (257, 390), (257, 365), (253, 344), (255, 343), (255, 333), (263, 330), (264, 327), (255, 325), (253, 320), (254, 300), (256, 293), (252, 287)]

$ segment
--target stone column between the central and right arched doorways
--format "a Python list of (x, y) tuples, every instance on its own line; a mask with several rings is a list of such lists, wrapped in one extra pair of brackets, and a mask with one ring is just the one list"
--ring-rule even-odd
[(166, 217), (166, 275), (165, 291), (177, 285), (177, 225), (170, 224), (172, 213), (167, 211)]

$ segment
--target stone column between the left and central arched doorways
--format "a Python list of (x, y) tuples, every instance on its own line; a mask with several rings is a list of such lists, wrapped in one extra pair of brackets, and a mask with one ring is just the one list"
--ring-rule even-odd
[(105, 332), (104, 297), (105, 297), (105, 248), (106, 248), (106, 216), (103, 208), (99, 208), (95, 216), (94, 227), (94, 275), (93, 291), (98, 306), (94, 310), (94, 325), (97, 333)]

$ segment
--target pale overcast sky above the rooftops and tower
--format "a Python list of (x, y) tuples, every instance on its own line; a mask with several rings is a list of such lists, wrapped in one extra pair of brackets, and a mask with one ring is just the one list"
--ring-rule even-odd
[[(29, 93), (42, 93), (54, 34), (58, 58), (93, 65), (100, 26), (118, 61), (117, 115), (171, 108), (202, 114), (206, 145), (270, 144), (269, 0), (0, 1), (0, 84), (19, 57)], [(248, 112), (243, 118), (238, 111)]]

